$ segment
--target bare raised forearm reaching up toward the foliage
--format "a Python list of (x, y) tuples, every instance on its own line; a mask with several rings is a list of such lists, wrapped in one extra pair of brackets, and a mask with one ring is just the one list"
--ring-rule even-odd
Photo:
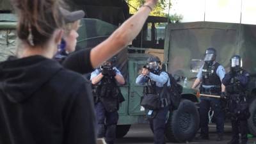
[[(144, 5), (154, 8), (156, 3), (157, 0), (147, 0)], [(147, 6), (141, 7), (120, 28), (116, 29), (107, 40), (94, 47), (90, 52), (90, 61), (92, 62), (93, 68), (99, 67), (103, 61), (108, 60), (111, 56), (114, 56), (126, 47), (140, 33), (149, 13), (150, 8)]]

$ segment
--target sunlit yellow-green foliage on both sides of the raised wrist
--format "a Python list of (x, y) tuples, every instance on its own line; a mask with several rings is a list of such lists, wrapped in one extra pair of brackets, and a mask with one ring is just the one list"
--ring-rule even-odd
[[(145, 0), (128, 0), (127, 3), (130, 7), (130, 13), (136, 13), (140, 6), (145, 3)], [(164, 10), (168, 8), (169, 0), (161, 0), (159, 3), (157, 3), (157, 6), (154, 8), (154, 10), (150, 13), (150, 15), (154, 16), (161, 16), (165, 17), (166, 14), (164, 13)]]

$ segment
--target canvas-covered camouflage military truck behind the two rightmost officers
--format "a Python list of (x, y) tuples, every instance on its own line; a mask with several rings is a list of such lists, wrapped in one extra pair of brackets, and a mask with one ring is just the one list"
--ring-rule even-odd
[[(188, 77), (188, 88), (191, 88), (207, 47), (217, 50), (216, 61), (229, 71), (230, 58), (239, 54), (243, 58), (243, 68), (251, 74), (248, 91), (250, 118), (248, 127), (256, 136), (256, 25), (231, 24), (220, 22), (188, 22), (168, 24), (166, 28), (164, 49), (168, 71), (178, 72)], [(183, 82), (184, 83), (184, 82)]]

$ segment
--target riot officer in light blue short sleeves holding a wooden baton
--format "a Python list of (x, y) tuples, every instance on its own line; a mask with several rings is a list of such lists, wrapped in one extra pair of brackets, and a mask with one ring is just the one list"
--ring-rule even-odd
[[(225, 76), (225, 69), (216, 61), (216, 50), (212, 47), (206, 49), (204, 66), (200, 68), (197, 78), (192, 88), (196, 88), (200, 83), (200, 93), (208, 95), (223, 95), (225, 86), (221, 83)], [(209, 116), (210, 108), (214, 111), (216, 120), (217, 141), (223, 140), (224, 131), (224, 113), (221, 111), (220, 99), (214, 97), (200, 97), (200, 136), (198, 139), (209, 140)]]

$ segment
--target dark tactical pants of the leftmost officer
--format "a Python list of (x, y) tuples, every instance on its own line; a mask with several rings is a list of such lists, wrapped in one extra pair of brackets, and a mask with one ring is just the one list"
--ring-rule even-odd
[[(102, 102), (95, 104), (97, 118), (97, 137), (106, 138), (108, 144), (115, 143), (116, 139), (116, 124), (118, 122), (117, 111), (108, 112), (104, 108)], [(106, 128), (106, 130), (105, 130)]]

